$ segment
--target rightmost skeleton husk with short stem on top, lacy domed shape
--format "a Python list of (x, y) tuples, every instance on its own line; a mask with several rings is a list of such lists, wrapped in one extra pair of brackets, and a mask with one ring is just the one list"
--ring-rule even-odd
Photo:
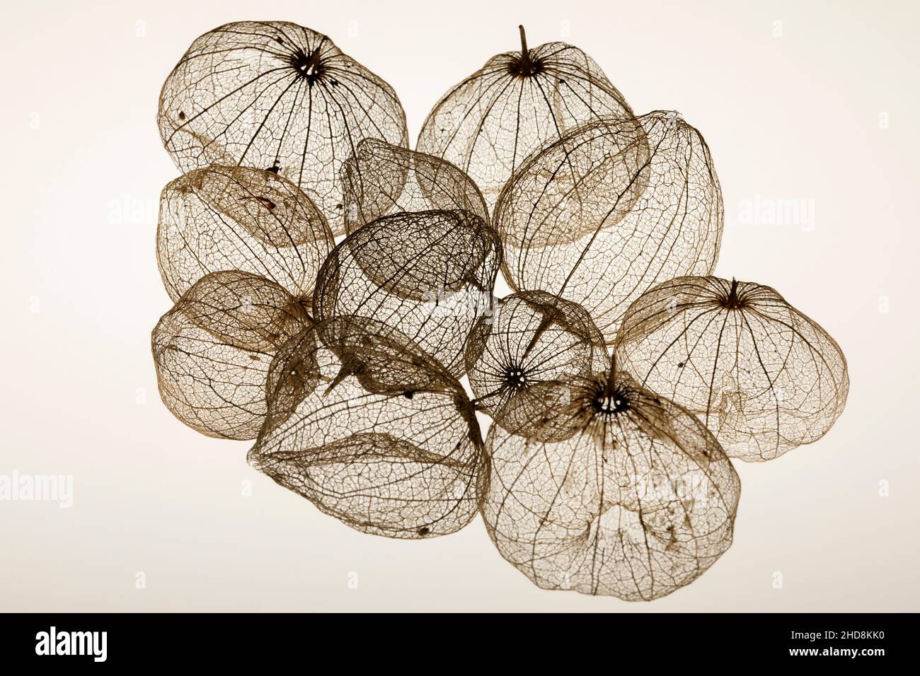
[(615, 349), (640, 382), (696, 413), (730, 457), (747, 461), (820, 439), (849, 391), (834, 338), (753, 281), (666, 281), (629, 307)]

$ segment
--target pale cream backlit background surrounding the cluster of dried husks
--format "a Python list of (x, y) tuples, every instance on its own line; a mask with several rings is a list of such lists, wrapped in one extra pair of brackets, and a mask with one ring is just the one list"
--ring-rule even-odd
[[(0, 474), (75, 481), (71, 510), (0, 502), (3, 610), (920, 610), (916, 3), (0, 11)], [(677, 109), (704, 132), (725, 194), (718, 273), (771, 284), (815, 317), (852, 378), (824, 439), (739, 466), (735, 544), (705, 576), (650, 604), (537, 590), (481, 521), (420, 543), (353, 532), (249, 468), (247, 443), (207, 439), (169, 415), (149, 332), (169, 307), (155, 210), (177, 170), (156, 99), (191, 40), (247, 18), (328, 33), (395, 86), (413, 138), (443, 91), (517, 48), (520, 22), (532, 45), (568, 28), (638, 112)], [(813, 201), (813, 232), (742, 223), (756, 195)]]

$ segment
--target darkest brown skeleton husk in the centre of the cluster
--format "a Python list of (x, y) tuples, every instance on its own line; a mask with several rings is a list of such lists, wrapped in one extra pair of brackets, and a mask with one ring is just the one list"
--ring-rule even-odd
[(329, 255), (314, 315), (360, 315), (397, 327), (459, 377), (466, 337), (489, 311), (500, 250), (495, 232), (468, 212), (385, 216)]

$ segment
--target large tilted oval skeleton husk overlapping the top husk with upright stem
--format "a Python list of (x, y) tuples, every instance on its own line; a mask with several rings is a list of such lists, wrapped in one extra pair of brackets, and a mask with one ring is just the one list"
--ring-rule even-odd
[[(594, 120), (533, 155), (505, 186), (493, 217), (512, 289), (581, 304), (608, 344), (642, 292), (711, 272), (722, 235), (719, 179), (703, 137), (675, 113), (638, 122), (646, 163), (619, 154), (635, 150), (636, 120)], [(573, 171), (604, 180), (573, 182)], [(565, 201), (535, 178), (544, 175), (572, 186)]]

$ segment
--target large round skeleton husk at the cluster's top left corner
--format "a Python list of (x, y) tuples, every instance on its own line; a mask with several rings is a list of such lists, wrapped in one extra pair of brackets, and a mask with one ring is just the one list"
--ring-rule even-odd
[(191, 43), (160, 93), (160, 136), (182, 171), (212, 164), (276, 171), (344, 232), (342, 164), (364, 138), (408, 145), (393, 87), (327, 36), (240, 21)]

